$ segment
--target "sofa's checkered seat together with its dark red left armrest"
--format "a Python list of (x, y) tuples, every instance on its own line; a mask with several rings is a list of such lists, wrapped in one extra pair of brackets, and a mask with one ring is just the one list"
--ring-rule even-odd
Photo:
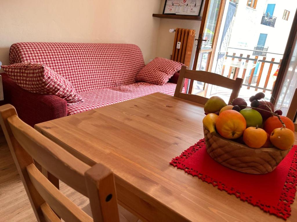
[(55, 95), (37, 94), (26, 91), (20, 88), (6, 73), (1, 73), (1, 75), (3, 80), (4, 101), (2, 101), (0, 105), (7, 103), (12, 104), (20, 119), (32, 127), (37, 123), (134, 99), (155, 92), (173, 95), (176, 87), (174, 83), (166, 83), (164, 86), (151, 83), (133, 83), (109, 89), (86, 91), (81, 93), (85, 102), (67, 104), (64, 99)]

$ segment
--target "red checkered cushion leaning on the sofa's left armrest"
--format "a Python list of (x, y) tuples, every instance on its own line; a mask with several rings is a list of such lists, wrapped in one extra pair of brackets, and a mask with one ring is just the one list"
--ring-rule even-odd
[(16, 84), (29, 92), (53, 94), (68, 103), (83, 102), (67, 79), (43, 64), (26, 62), (1, 67)]

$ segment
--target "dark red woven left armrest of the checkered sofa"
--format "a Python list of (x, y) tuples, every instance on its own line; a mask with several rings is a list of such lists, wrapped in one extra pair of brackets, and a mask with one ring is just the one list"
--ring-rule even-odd
[(12, 104), (21, 120), (30, 126), (67, 116), (67, 102), (55, 95), (31, 93), (18, 86), (6, 73), (1, 73), (4, 101)]

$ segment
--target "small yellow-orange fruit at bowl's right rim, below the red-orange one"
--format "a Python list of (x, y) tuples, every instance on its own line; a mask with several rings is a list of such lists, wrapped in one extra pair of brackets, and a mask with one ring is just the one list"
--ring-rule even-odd
[(271, 143), (279, 149), (290, 149), (295, 141), (295, 134), (288, 128), (277, 128), (270, 135)]

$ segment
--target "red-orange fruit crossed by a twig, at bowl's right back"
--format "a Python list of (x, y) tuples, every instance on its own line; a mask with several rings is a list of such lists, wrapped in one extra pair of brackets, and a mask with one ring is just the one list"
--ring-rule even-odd
[[(280, 119), (285, 123), (286, 128), (292, 130), (293, 132), (295, 131), (295, 126), (292, 120), (287, 118), (286, 116), (279, 116)], [(271, 132), (276, 129), (276, 128), (282, 128), (283, 125), (277, 118), (277, 116), (271, 116), (269, 117), (265, 123), (264, 123), (264, 130), (268, 133), (271, 134)]]

